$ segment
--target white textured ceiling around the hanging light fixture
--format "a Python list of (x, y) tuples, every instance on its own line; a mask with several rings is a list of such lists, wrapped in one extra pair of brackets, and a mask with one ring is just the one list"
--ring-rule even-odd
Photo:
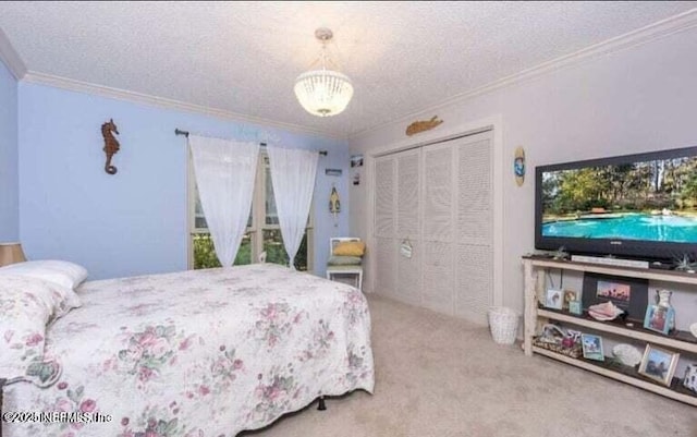
[[(0, 2), (29, 73), (346, 137), (697, 7), (604, 2)], [(319, 54), (354, 82), (341, 114), (305, 113)]]

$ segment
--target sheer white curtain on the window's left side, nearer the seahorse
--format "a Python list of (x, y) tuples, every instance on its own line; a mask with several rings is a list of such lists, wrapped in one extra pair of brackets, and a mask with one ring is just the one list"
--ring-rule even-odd
[(223, 267), (231, 266), (252, 208), (259, 145), (188, 136), (198, 196)]

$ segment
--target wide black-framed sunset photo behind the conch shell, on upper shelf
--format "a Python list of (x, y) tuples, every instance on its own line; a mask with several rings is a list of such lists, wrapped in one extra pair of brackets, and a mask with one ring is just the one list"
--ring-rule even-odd
[(595, 272), (584, 274), (584, 309), (599, 303), (612, 302), (624, 309), (626, 318), (641, 321), (649, 300), (648, 279), (614, 277)]

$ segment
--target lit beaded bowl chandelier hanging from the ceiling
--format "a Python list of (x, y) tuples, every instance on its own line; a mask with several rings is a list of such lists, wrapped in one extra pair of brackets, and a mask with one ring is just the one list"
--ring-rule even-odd
[(327, 63), (331, 62), (327, 56), (327, 41), (332, 37), (331, 31), (320, 27), (315, 31), (315, 37), (322, 43), (322, 52), (318, 59), (321, 68), (297, 76), (294, 87), (295, 97), (313, 116), (331, 117), (346, 109), (353, 97), (353, 85), (345, 74), (327, 69)]

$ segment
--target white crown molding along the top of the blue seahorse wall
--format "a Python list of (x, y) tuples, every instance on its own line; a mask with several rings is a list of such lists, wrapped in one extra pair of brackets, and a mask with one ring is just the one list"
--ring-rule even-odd
[(75, 81), (68, 77), (56, 76), (52, 74), (39, 73), (36, 71), (27, 71), (24, 74), (22, 82), (33, 83), (38, 85), (48, 85), (56, 88), (66, 89), (76, 93), (85, 93), (89, 95), (112, 98), (117, 100), (123, 100), (135, 104), (143, 104), (161, 109), (171, 109), (176, 111), (193, 112), (196, 114), (215, 117), (222, 120), (259, 124), (264, 128), (276, 128), (284, 131), (291, 131), (299, 134), (308, 134), (321, 136), (331, 139), (346, 141), (346, 136), (332, 134), (321, 130), (315, 130), (307, 126), (302, 126), (293, 123), (283, 123), (273, 120), (267, 120), (257, 117), (245, 116), (237, 112), (225, 111), (218, 108), (209, 108), (201, 105), (188, 104), (185, 101), (169, 99), (164, 97), (151, 96), (148, 94), (142, 94), (136, 92), (130, 92), (121, 88), (112, 88), (103, 85), (96, 85), (88, 82)]

